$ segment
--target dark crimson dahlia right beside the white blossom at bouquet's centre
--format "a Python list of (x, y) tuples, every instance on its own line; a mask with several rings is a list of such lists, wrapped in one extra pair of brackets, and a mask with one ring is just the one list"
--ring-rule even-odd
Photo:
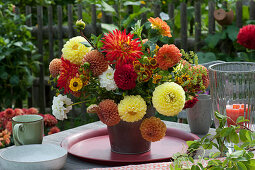
[(114, 72), (114, 81), (118, 88), (130, 90), (136, 86), (137, 74), (131, 64), (124, 64)]

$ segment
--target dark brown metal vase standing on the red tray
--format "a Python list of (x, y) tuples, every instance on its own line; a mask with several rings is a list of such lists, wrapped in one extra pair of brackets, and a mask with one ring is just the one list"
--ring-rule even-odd
[[(148, 106), (143, 119), (155, 114), (155, 109)], [(142, 120), (136, 122), (120, 121), (117, 125), (108, 126), (112, 152), (119, 154), (141, 154), (150, 151), (151, 142), (143, 139), (140, 132)]]

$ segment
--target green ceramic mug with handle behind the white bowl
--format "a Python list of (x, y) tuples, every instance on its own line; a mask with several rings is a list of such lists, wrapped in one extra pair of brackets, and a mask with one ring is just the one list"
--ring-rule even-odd
[(44, 135), (43, 117), (21, 115), (12, 118), (15, 145), (41, 144)]

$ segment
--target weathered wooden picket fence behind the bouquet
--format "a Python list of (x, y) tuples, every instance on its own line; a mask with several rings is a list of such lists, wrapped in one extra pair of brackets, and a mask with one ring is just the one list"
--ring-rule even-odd
[[(144, 5), (142, 5), (144, 6)], [(141, 6), (141, 7), (142, 7)], [(236, 24), (238, 27), (242, 27), (242, 1), (236, 2)], [(67, 5), (67, 18), (68, 18), (68, 24), (67, 26), (63, 25), (63, 7), (57, 6), (57, 13), (53, 13), (52, 6), (47, 7), (47, 11), (43, 10), (46, 8), (43, 8), (42, 6), (36, 7), (36, 14), (31, 13), (31, 7), (26, 7), (26, 15), (32, 14), (36, 15), (37, 17), (37, 23), (32, 23), (31, 18), (27, 20), (28, 26), (33, 26), (32, 35), (36, 37), (37, 41), (37, 48), (38, 53), (41, 54), (40, 62), (43, 63), (43, 56), (44, 56), (44, 49), (43, 49), (43, 42), (44, 40), (48, 40), (48, 48), (49, 48), (49, 58), (48, 61), (50, 62), (54, 56), (54, 41), (58, 41), (58, 56), (61, 55), (61, 49), (63, 47), (64, 38), (71, 38), (75, 35), (77, 35), (77, 32), (74, 29), (74, 13), (73, 11), (77, 11), (78, 19), (82, 19), (82, 12), (83, 12), (83, 6), (82, 4), (78, 4), (77, 8), (74, 10), (74, 6), (69, 4)], [(170, 20), (174, 23), (175, 15), (174, 15), (174, 9), (175, 6), (173, 3), (168, 4), (168, 15)], [(195, 15), (194, 15), (194, 25), (195, 25), (195, 31), (194, 31), (194, 38), (188, 38), (188, 20), (187, 20), (187, 4), (181, 3), (180, 6), (180, 23), (181, 23), (181, 34), (180, 38), (176, 39), (177, 46), (180, 48), (183, 48), (187, 50), (189, 48), (189, 42), (194, 47), (194, 50), (199, 50), (199, 47), (201, 46), (201, 2), (196, 1), (194, 4), (195, 9)], [(210, 1), (208, 4), (208, 16), (209, 16), (209, 22), (208, 22), (208, 34), (213, 34), (215, 32), (215, 20), (214, 20), (214, 13), (215, 10), (215, 3), (214, 1)], [(251, 0), (249, 2), (249, 10), (250, 10), (250, 19), (255, 20), (255, 2)], [(128, 7), (127, 13), (132, 11), (132, 6)], [(46, 12), (48, 14), (48, 24), (43, 24), (43, 12)], [(161, 12), (160, 6), (155, 5), (154, 6), (154, 17), (159, 16)], [(57, 22), (53, 23), (53, 15), (57, 16)], [(102, 23), (109, 23), (112, 22), (112, 19), (108, 17), (105, 12), (102, 11)], [(85, 35), (89, 35), (91, 33), (98, 34), (101, 32), (100, 24), (97, 23), (96, 19), (96, 5), (91, 5), (91, 17), (92, 22), (90, 24), (86, 25), (85, 28)], [(142, 14), (141, 19), (143, 21), (146, 20), (146, 15)], [(36, 25), (36, 26), (35, 26)], [(45, 70), (44, 65), (40, 65), (40, 74), (39, 78), (35, 81), (34, 86), (31, 89), (32, 97), (29, 99), (28, 105), (33, 107), (39, 107), (41, 113), (45, 113), (45, 108), (50, 107), (51, 100), (52, 100), (52, 94), (50, 92), (50, 88), (47, 85), (47, 76), (45, 76)], [(46, 104), (47, 103), (47, 104)]]

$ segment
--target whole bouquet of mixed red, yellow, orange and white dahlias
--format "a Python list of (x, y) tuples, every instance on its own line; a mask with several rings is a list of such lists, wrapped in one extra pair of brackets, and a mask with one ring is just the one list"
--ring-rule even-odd
[(90, 41), (83, 34), (85, 23), (76, 22), (82, 36), (67, 41), (61, 58), (49, 65), (58, 88), (52, 105), (57, 119), (67, 119), (77, 104), (72, 95), (78, 103), (90, 103), (87, 112), (97, 113), (107, 126), (143, 120), (143, 138), (158, 141), (166, 126), (154, 116), (144, 118), (147, 107), (174, 116), (195, 104), (197, 92), (208, 87), (207, 69), (197, 65), (195, 53), (166, 43), (172, 37), (166, 22), (150, 18), (145, 25), (138, 21), (130, 33), (113, 30)]

